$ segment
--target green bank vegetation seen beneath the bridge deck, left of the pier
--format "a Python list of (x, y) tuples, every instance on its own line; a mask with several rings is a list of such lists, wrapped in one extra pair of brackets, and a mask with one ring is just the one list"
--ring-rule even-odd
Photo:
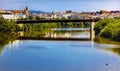
[(89, 27), (89, 23), (40, 23), (40, 24), (25, 24), (23, 28), (24, 36), (27, 37), (43, 37), (46, 34), (50, 34), (50, 32), (54, 32), (53, 28), (81, 28), (81, 27)]

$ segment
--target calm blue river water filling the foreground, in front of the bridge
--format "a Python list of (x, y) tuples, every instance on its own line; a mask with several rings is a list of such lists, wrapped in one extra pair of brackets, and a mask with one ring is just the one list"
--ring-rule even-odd
[[(88, 30), (68, 32), (89, 38)], [(120, 71), (120, 43), (97, 36), (94, 41), (16, 39), (0, 44), (0, 71)]]

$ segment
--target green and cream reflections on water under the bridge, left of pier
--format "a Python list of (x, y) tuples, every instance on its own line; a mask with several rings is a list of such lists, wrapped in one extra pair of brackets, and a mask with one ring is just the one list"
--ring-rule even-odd
[(23, 34), (21, 35), (23, 37), (90, 38), (89, 28), (58, 28), (52, 30), (23, 32)]

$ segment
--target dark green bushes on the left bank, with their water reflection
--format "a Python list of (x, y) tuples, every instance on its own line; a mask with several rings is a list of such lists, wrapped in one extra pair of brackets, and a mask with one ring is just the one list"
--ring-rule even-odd
[(6, 44), (12, 43), (19, 37), (18, 31), (20, 31), (20, 27), (14, 20), (0, 18), (0, 54)]

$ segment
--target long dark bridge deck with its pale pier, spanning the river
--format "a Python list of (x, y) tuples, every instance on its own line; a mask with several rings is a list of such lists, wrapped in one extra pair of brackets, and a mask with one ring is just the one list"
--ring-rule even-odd
[(29, 20), (29, 21), (16, 21), (17, 24), (40, 24), (40, 23), (55, 23), (55, 22), (90, 22), (90, 40), (95, 37), (94, 25), (99, 19), (73, 19), (73, 20)]

